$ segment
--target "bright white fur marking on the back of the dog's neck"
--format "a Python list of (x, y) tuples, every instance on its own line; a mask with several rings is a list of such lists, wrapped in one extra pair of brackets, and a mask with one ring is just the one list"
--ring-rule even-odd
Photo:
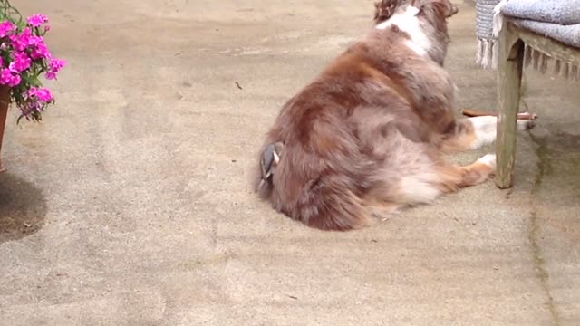
[(411, 50), (419, 55), (425, 55), (430, 49), (431, 42), (429, 37), (423, 29), (420, 27), (419, 18), (419, 8), (415, 6), (408, 6), (404, 12), (393, 14), (389, 20), (376, 25), (376, 29), (387, 29), (392, 25), (396, 25), (402, 32), (406, 32), (411, 36), (411, 40), (405, 42), (405, 44), (411, 48)]

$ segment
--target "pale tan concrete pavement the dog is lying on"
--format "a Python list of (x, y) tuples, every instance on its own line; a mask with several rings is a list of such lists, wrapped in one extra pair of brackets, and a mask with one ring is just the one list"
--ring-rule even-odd
[[(248, 168), (372, 1), (14, 5), (49, 15), (69, 65), (42, 124), (8, 121), (0, 325), (580, 324), (577, 83), (526, 72), (540, 120), (513, 189), (324, 233), (258, 201)], [(468, 3), (452, 19), (447, 65), (460, 107), (494, 109), (474, 17)]]

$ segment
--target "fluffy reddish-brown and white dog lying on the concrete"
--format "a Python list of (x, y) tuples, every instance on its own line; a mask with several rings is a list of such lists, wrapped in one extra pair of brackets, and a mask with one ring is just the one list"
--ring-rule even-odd
[(496, 117), (453, 115), (455, 84), (443, 62), (457, 8), (449, 0), (375, 7), (372, 31), (285, 103), (260, 151), (259, 196), (305, 225), (360, 228), (495, 170), (492, 154), (465, 167), (442, 158), (496, 138)]

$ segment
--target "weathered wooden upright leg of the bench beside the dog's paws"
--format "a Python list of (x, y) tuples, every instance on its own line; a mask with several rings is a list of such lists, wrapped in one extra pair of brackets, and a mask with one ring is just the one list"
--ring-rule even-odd
[(498, 137), (496, 154), (498, 169), (496, 186), (512, 187), (512, 170), (516, 160), (516, 122), (524, 65), (524, 43), (507, 29), (499, 33), (498, 50)]

